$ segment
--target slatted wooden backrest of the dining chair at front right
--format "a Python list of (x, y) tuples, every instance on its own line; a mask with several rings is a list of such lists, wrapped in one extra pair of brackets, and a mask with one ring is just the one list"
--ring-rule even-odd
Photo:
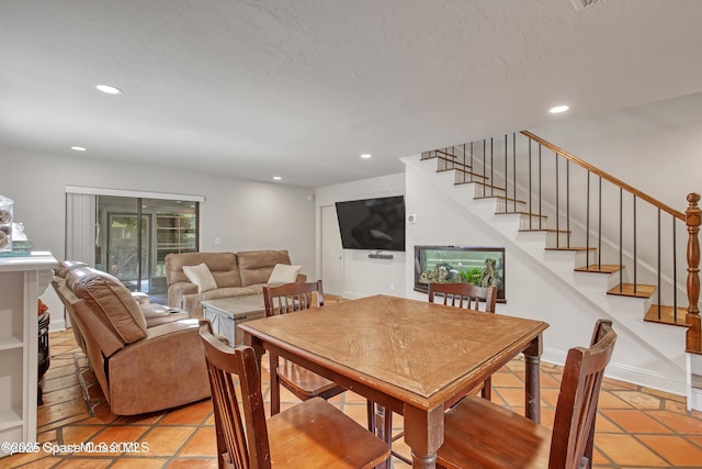
[(568, 350), (553, 426), (550, 469), (577, 469), (582, 457), (592, 454), (597, 403), (615, 342), (612, 322), (599, 320), (590, 348)]

